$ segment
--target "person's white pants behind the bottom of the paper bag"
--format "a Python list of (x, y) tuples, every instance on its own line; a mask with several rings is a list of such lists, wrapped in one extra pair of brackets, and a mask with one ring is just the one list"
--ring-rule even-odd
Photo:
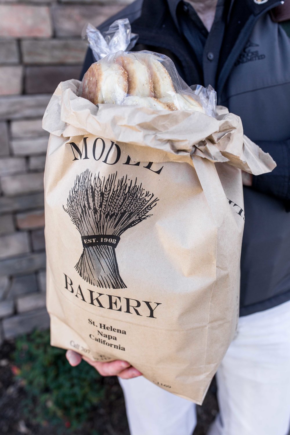
[[(195, 405), (142, 376), (119, 379), (131, 435), (192, 435)], [(220, 414), (209, 435), (287, 435), (290, 301), (241, 317), (217, 371)]]

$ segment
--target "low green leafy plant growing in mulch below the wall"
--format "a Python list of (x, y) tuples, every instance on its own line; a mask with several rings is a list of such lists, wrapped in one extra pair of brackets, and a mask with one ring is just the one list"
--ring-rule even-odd
[(27, 394), (24, 411), (33, 422), (80, 430), (103, 398), (97, 371), (85, 361), (71, 367), (65, 351), (50, 346), (49, 331), (17, 338), (13, 359)]

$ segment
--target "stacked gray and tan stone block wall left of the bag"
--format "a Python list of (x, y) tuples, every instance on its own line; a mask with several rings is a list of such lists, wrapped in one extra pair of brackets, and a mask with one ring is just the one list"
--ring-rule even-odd
[(59, 82), (79, 78), (85, 23), (125, 3), (0, 0), (0, 342), (49, 324), (41, 118)]

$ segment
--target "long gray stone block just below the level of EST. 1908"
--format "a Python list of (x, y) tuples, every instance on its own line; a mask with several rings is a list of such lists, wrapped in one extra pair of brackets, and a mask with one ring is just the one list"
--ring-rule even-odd
[(0, 260), (1, 275), (29, 274), (45, 268), (45, 252), (33, 252), (17, 258)]

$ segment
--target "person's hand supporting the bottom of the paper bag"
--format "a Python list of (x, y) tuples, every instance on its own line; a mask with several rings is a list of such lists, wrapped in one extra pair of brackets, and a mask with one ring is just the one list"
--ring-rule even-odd
[(82, 359), (87, 361), (87, 363), (92, 365), (102, 376), (119, 376), (119, 378), (122, 379), (131, 379), (142, 375), (142, 373), (140, 373), (137, 368), (132, 367), (129, 362), (120, 359), (110, 362), (92, 361), (91, 359), (85, 356), (82, 357), (82, 355), (71, 350), (67, 351), (66, 357), (67, 361), (73, 367), (79, 365)]

